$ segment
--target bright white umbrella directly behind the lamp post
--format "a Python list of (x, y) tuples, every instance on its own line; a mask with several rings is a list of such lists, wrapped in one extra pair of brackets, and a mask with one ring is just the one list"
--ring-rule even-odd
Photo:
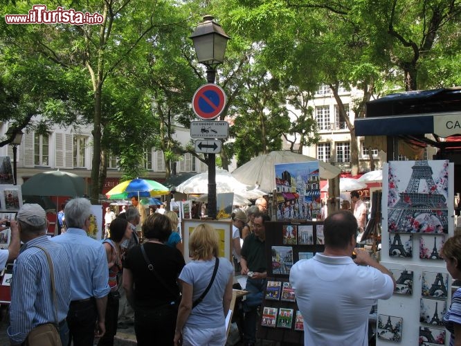
[[(190, 177), (176, 187), (183, 194), (208, 193), (208, 171)], [(216, 193), (244, 192), (246, 185), (240, 183), (226, 170), (216, 169)]]

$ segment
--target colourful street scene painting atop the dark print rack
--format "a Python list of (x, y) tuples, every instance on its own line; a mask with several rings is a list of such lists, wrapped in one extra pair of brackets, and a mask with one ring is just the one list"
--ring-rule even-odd
[(320, 176), (317, 161), (275, 166), (277, 219), (316, 219), (320, 215)]

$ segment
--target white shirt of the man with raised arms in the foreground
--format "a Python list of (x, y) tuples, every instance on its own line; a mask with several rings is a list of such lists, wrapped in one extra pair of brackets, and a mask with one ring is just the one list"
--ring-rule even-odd
[(320, 253), (296, 262), (290, 282), (304, 318), (304, 344), (315, 346), (368, 345), (370, 309), (394, 291), (390, 276), (376, 268)]

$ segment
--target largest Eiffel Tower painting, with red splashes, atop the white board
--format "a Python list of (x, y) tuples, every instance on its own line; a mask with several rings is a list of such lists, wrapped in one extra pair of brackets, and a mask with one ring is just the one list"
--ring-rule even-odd
[[(439, 190), (440, 182), (446, 181), (448, 174), (444, 171), (443, 163), (444, 161), (389, 163), (389, 170), (392, 172), (388, 194), (389, 231), (448, 233), (446, 194)], [(408, 172), (411, 172), (411, 176), (406, 187), (397, 186), (395, 181), (406, 181), (404, 176), (408, 176)]]

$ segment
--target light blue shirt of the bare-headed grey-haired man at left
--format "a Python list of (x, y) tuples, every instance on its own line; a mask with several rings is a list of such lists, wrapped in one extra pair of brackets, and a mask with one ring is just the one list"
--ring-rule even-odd
[(109, 267), (104, 245), (80, 228), (68, 228), (66, 233), (51, 241), (62, 244), (69, 256), (71, 300), (98, 299), (109, 294)]

